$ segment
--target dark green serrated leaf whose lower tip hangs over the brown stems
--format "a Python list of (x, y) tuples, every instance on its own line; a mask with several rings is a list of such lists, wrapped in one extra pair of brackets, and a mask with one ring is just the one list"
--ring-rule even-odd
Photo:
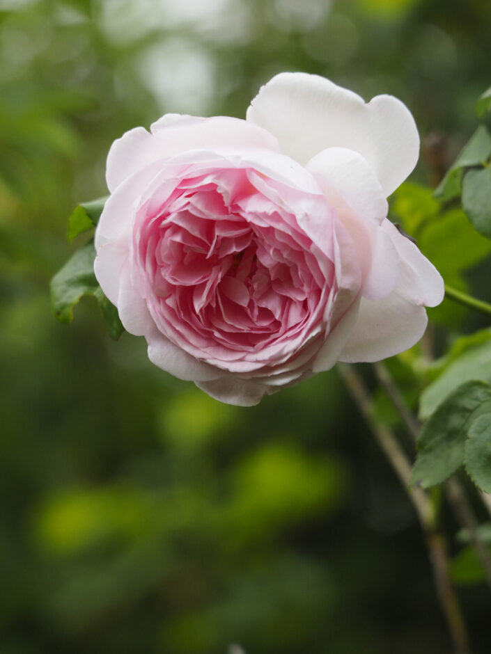
[(430, 488), (448, 479), (464, 459), (467, 420), (486, 400), (491, 386), (482, 381), (460, 385), (424, 424), (412, 470), (412, 486)]

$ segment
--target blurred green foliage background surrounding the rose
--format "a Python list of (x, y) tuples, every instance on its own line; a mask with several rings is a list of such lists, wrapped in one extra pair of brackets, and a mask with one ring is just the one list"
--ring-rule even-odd
[[(57, 323), (48, 287), (114, 138), (244, 117), (283, 70), (403, 99), (432, 183), (474, 131), (490, 34), (489, 0), (0, 0), (0, 654), (449, 651), (336, 372), (224, 406), (112, 342), (95, 301)], [(460, 594), (488, 653), (489, 598)]]

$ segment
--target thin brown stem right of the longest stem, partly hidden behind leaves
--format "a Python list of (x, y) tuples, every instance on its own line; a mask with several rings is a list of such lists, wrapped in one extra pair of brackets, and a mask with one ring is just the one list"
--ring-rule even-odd
[[(373, 369), (378, 381), (380, 381), (380, 385), (382, 385), (382, 388), (384, 388), (387, 393), (393, 407), (400, 415), (400, 419), (402, 420), (407, 433), (409, 433), (414, 440), (417, 440), (419, 431), (421, 430), (421, 425), (407, 408), (405, 399), (396, 383), (393, 381), (393, 377), (389, 373), (389, 370), (380, 362), (374, 363)], [(460, 522), (460, 525), (465, 527), (467, 532), (469, 532), (469, 539), (476, 549), (476, 554), (478, 555), (484, 569), (486, 582), (491, 590), (491, 558), (481, 536), (479, 536), (478, 520), (476, 519), (476, 515), (472, 509), (467, 494), (456, 477), (452, 477), (452, 479), (446, 481), (446, 484), (444, 484), (444, 490), (446, 499), (448, 500), (455, 517)]]

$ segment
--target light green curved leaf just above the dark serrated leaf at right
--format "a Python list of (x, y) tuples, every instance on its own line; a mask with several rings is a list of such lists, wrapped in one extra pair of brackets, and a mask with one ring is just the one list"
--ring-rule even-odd
[(419, 417), (425, 420), (444, 399), (465, 381), (491, 383), (491, 342), (471, 348), (452, 362), (421, 394)]

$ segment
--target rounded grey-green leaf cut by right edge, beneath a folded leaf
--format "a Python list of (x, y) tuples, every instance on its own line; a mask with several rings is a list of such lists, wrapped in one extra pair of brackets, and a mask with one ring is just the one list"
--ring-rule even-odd
[(462, 208), (479, 234), (491, 239), (491, 168), (469, 170), (465, 175)]

